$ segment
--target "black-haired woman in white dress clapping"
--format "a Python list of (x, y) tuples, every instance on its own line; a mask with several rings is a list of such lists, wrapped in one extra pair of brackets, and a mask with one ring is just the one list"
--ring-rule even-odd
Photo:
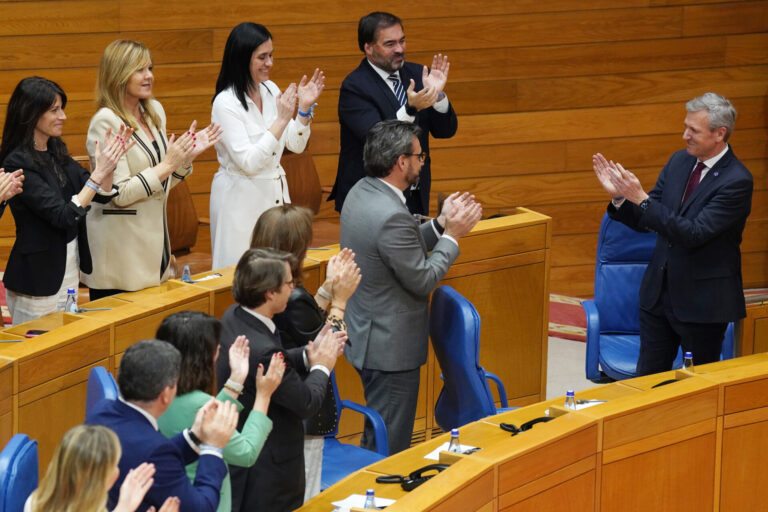
[(280, 157), (286, 147), (304, 151), (312, 109), (325, 85), (316, 69), (312, 78), (305, 75), (281, 93), (269, 79), (272, 64), (266, 27), (247, 22), (232, 29), (211, 112), (211, 121), (224, 131), (216, 144), (219, 170), (211, 186), (213, 268), (235, 265), (259, 216), (291, 202)]

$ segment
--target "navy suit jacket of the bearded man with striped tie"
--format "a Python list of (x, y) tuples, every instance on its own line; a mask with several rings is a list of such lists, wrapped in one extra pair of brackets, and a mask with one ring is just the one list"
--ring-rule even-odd
[[(415, 90), (424, 88), (421, 82), (423, 66), (406, 62), (400, 69), (400, 79), (407, 89), (410, 80), (415, 82)], [(364, 58), (360, 65), (352, 71), (341, 83), (339, 91), (339, 123), (341, 151), (339, 152), (339, 168), (336, 183), (328, 198), (336, 200), (336, 211), (341, 207), (352, 186), (358, 182), (365, 172), (363, 169), (363, 148), (365, 136), (373, 125), (387, 119), (397, 119), (400, 103), (395, 98), (392, 89), (381, 79), (376, 71)], [(458, 128), (458, 119), (453, 105), (448, 112), (441, 114), (434, 108), (425, 108), (416, 114), (415, 123), (423, 133), (419, 137), (422, 151), (429, 151), (429, 134), (438, 139), (453, 137)], [(431, 184), (431, 162), (427, 158), (421, 169), (419, 191), (424, 211), (429, 213), (429, 189)]]

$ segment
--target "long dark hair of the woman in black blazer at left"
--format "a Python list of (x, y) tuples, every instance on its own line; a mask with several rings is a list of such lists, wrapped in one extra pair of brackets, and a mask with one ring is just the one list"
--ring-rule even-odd
[[(26, 150), (38, 163), (46, 162), (35, 151), (35, 127), (40, 117), (51, 108), (56, 96), (61, 97), (61, 108), (67, 106), (67, 95), (59, 84), (31, 76), (24, 78), (16, 86), (8, 100), (8, 111), (3, 125), (3, 141), (0, 145), (0, 165), (16, 148)], [(61, 137), (48, 139), (48, 150), (54, 159), (63, 163), (67, 157), (67, 146)], [(50, 165), (50, 163), (48, 163)]]

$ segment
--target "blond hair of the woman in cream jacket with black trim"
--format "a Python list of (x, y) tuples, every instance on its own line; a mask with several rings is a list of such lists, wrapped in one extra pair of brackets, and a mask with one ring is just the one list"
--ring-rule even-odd
[[(134, 130), (139, 129), (139, 121), (125, 107), (125, 86), (136, 71), (152, 62), (149, 48), (138, 41), (118, 39), (104, 49), (96, 79), (96, 103), (100, 108), (108, 108)], [(152, 108), (151, 98), (141, 99), (139, 103), (144, 113), (156, 128), (160, 127), (160, 116)]]

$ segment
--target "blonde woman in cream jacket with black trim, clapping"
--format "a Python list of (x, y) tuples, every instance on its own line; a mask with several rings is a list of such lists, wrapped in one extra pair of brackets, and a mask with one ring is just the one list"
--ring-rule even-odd
[(93, 272), (83, 275), (91, 299), (156, 286), (168, 279), (171, 248), (165, 205), (167, 194), (192, 172), (192, 161), (214, 145), (221, 130), (211, 124), (195, 132), (197, 122), (179, 137), (166, 137), (166, 117), (152, 96), (152, 56), (136, 41), (113, 41), (104, 50), (96, 87), (98, 112), (88, 128), (90, 140), (103, 140), (110, 128), (134, 129), (136, 144), (120, 159), (114, 183), (119, 193), (94, 208)]

